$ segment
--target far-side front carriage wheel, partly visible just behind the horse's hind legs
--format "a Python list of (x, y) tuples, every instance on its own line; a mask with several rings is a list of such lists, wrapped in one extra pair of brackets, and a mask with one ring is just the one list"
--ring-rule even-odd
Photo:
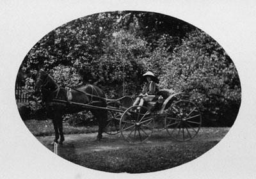
[[(108, 102), (108, 106), (119, 108), (118, 102)], [(122, 113), (116, 111), (108, 111), (108, 120), (106, 121), (106, 127), (104, 131), (106, 134), (115, 135), (120, 132), (119, 123)]]

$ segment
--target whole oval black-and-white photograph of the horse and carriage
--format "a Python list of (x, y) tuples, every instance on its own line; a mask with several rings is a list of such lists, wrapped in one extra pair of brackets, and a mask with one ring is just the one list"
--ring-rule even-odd
[(15, 84), (21, 120), (79, 166), (150, 173), (190, 162), (236, 121), (241, 84), (225, 49), (154, 12), (116, 11), (53, 29), (26, 54)]

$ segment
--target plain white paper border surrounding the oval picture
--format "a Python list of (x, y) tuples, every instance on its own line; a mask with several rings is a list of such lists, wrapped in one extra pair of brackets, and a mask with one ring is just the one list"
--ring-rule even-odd
[[(0, 3), (0, 178), (253, 178), (255, 177), (254, 1), (8, 1)], [(212, 36), (234, 61), (242, 85), (236, 123), (212, 150), (166, 171), (103, 173), (61, 159), (42, 146), (20, 120), (15, 79), (28, 51), (52, 29), (93, 13), (157, 12), (184, 20)]]

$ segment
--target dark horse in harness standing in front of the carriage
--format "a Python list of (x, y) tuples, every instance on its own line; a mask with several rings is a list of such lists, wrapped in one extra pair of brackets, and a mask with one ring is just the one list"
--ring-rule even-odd
[(97, 118), (99, 123), (97, 139), (102, 138), (104, 124), (108, 120), (108, 112), (104, 109), (106, 98), (100, 88), (93, 85), (76, 89), (58, 86), (49, 74), (44, 70), (39, 70), (36, 74), (35, 91), (41, 91), (47, 117), (52, 120), (54, 125), (54, 142), (58, 143), (59, 137), (60, 144), (65, 140), (62, 127), (63, 114), (79, 113), (84, 110), (89, 110)]

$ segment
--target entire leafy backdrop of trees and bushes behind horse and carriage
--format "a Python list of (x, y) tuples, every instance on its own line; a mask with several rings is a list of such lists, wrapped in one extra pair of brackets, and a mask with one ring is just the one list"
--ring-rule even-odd
[(188, 93), (205, 116), (226, 125), (232, 125), (241, 103), (236, 66), (223, 48), (191, 24), (159, 13), (97, 13), (45, 35), (20, 68), (35, 111), (42, 108), (33, 93), (38, 65), (60, 85), (95, 84), (108, 98), (134, 97), (141, 75), (151, 70), (159, 88)]

